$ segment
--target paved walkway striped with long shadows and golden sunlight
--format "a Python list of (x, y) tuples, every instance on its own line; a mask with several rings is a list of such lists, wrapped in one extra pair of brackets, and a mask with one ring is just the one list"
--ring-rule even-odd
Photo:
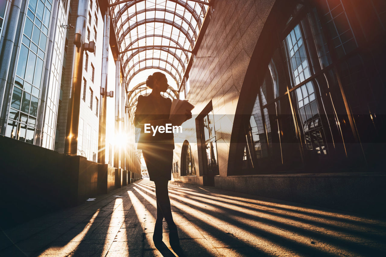
[(386, 221), (169, 183), (180, 249), (154, 246), (154, 183), (140, 180), (0, 235), (0, 256), (386, 256)]

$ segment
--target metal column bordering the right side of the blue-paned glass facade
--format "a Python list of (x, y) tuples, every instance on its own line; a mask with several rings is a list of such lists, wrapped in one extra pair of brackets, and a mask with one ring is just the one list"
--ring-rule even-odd
[[(51, 17), (51, 27), (49, 31), (48, 36), (48, 45), (47, 45), (47, 55), (46, 55), (46, 67), (44, 68), (44, 78), (43, 78), (43, 84), (42, 84), (42, 96), (40, 100), (39, 105), (39, 114), (36, 121), (36, 135), (35, 135), (35, 144), (38, 146), (42, 146), (43, 143), (43, 126), (44, 122), (46, 120), (46, 99), (48, 97), (48, 84), (50, 80), (51, 75), (51, 66), (52, 66), (52, 53), (54, 52), (54, 42), (55, 42), (55, 35), (56, 35), (56, 23), (58, 20), (56, 18), (58, 17), (59, 12), (59, 1), (54, 1), (54, 6), (52, 8), (52, 17)], [(58, 114), (59, 115), (59, 114)], [(52, 144), (53, 146), (53, 144)], [(52, 149), (53, 150), (53, 147)]]

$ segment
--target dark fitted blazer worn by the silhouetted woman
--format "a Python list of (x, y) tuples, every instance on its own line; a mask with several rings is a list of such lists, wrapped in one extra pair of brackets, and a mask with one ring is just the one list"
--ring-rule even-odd
[[(174, 149), (173, 133), (159, 133), (157, 131), (156, 134), (153, 136), (152, 129), (149, 129), (151, 133), (145, 133), (144, 124), (142, 123), (142, 120), (145, 118), (149, 118), (149, 121), (156, 119), (169, 119), (170, 108), (170, 98), (161, 97), (160, 103), (157, 104), (151, 95), (140, 95), (138, 97), (137, 109), (135, 110), (134, 114), (134, 125), (136, 128), (141, 128), (141, 134), (137, 142), (137, 149), (147, 149), (151, 148), (151, 146)], [(162, 125), (166, 126), (166, 123)]]

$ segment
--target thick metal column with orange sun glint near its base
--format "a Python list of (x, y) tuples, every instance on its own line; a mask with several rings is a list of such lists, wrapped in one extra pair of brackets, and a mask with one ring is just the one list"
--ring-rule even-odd
[(68, 98), (66, 138), (64, 139), (64, 154), (76, 155), (78, 149), (78, 126), (80, 93), (82, 86), (83, 52), (86, 38), (88, 0), (79, 0), (78, 16), (76, 17), (75, 33), (79, 33), (80, 47), (73, 46), (70, 92)]

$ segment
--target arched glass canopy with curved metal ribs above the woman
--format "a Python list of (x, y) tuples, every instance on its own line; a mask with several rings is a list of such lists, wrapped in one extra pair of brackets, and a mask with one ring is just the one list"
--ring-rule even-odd
[(110, 0), (109, 3), (126, 82), (146, 69), (160, 69), (180, 83), (209, 0)]

